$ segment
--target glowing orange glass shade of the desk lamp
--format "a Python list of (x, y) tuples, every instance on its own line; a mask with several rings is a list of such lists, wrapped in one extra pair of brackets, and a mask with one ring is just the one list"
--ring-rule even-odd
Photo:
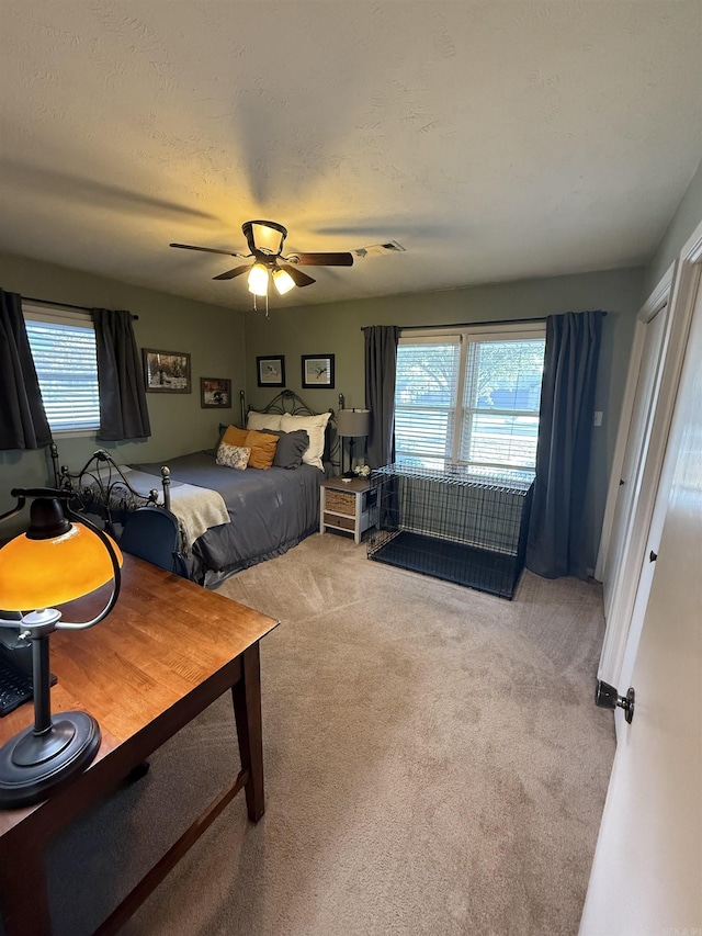
[[(107, 539), (121, 566), (120, 548)], [(0, 608), (53, 608), (88, 595), (112, 578), (110, 553), (100, 537), (82, 523), (72, 523), (66, 533), (45, 540), (31, 540), (22, 533), (0, 550)]]

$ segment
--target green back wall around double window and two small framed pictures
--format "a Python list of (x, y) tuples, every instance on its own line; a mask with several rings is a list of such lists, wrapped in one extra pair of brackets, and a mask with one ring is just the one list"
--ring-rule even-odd
[[(257, 386), (257, 356), (284, 354), (287, 386), (313, 409), (337, 409), (340, 392), (347, 406), (364, 406), (364, 325), (507, 322), (605, 309), (596, 396), (596, 409), (604, 415), (601, 428), (593, 429), (588, 497), (587, 535), (595, 567), (643, 272), (613, 270), (285, 309), (273, 305), (268, 319), (247, 312), (247, 398), (256, 407), (274, 395)], [(335, 354), (335, 390), (302, 390), (302, 354)]]

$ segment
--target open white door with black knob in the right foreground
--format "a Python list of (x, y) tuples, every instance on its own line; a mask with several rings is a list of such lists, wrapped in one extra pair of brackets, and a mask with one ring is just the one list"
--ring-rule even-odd
[(702, 290), (668, 452), (634, 720), (616, 748), (580, 936), (702, 933)]

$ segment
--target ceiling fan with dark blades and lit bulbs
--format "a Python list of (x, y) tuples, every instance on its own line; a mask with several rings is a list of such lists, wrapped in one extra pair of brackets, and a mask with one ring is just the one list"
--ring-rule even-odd
[(282, 224), (274, 221), (247, 221), (241, 225), (241, 230), (249, 245), (249, 253), (237, 253), (229, 250), (217, 250), (214, 247), (193, 247), (190, 244), (171, 244), (171, 247), (180, 247), (183, 250), (202, 250), (205, 253), (224, 253), (225, 257), (240, 257), (241, 259), (253, 258), (253, 263), (242, 263), (234, 267), (214, 280), (233, 280), (248, 272), (249, 292), (257, 296), (267, 296), (270, 281), (273, 280), (275, 289), (281, 295), (285, 295), (294, 286), (308, 286), (314, 283), (312, 277), (298, 270), (298, 267), (351, 267), (353, 255), (341, 253), (291, 253), (283, 255), (283, 244), (287, 237), (287, 230)]

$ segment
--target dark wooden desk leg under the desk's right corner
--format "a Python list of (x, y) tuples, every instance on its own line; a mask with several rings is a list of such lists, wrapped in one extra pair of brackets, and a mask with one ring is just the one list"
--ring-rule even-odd
[(261, 723), (261, 667), (258, 641), (241, 655), (241, 679), (233, 686), (234, 714), (241, 767), (248, 768), (246, 804), (249, 819), (263, 815), (263, 733)]

